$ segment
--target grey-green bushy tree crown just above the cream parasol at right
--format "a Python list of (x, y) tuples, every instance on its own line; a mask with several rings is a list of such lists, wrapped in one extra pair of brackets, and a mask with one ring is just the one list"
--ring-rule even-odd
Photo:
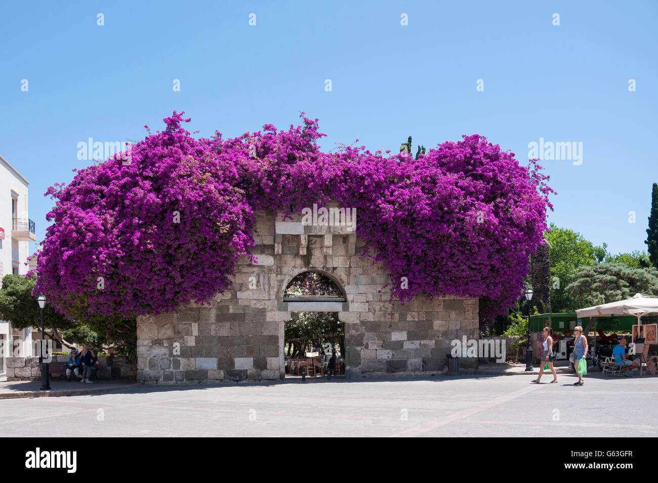
[(636, 293), (658, 297), (658, 269), (620, 263), (583, 267), (566, 290), (578, 308), (623, 300)]

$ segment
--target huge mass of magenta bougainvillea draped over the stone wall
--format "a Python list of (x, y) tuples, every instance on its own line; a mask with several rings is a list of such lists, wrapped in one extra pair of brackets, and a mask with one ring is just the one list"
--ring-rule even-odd
[(534, 161), (522, 167), (477, 134), (419, 159), (363, 146), (325, 153), (306, 117), (288, 131), (197, 140), (182, 114), (132, 146), (129, 163), (114, 156), (46, 192), (57, 205), (36, 291), (59, 312), (134, 317), (207, 302), (249, 254), (256, 210), (329, 200), (357, 209), (357, 235), (390, 270), (393, 298), (481, 297), (493, 316), (519, 297), (552, 209)]

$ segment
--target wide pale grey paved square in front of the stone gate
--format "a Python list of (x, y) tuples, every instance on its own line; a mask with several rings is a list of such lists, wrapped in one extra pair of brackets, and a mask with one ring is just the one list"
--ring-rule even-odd
[[(0, 401), (3, 436), (657, 436), (658, 378), (144, 386)], [(545, 378), (545, 383), (549, 382)], [(90, 433), (91, 432), (91, 433)]]

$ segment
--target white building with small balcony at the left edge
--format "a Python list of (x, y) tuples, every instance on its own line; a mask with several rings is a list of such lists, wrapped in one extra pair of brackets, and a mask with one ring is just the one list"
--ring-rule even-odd
[[(29, 270), (30, 241), (36, 241), (36, 234), (28, 215), (28, 185), (28, 180), (0, 156), (0, 283), (7, 273), (24, 275)], [(0, 341), (5, 349), (0, 356), (0, 376), (5, 374), (4, 358), (11, 355), (7, 349), (13, 348), (14, 339), (24, 341), (23, 355), (32, 355), (32, 331), (14, 332), (8, 322), (0, 320)]]

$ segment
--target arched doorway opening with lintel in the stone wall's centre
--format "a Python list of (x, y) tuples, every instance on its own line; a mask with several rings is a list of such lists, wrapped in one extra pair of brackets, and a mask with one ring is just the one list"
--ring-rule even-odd
[(338, 312), (345, 295), (340, 283), (320, 271), (303, 271), (286, 286), (284, 301), (295, 309), (284, 323), (286, 377), (344, 374), (345, 324)]

